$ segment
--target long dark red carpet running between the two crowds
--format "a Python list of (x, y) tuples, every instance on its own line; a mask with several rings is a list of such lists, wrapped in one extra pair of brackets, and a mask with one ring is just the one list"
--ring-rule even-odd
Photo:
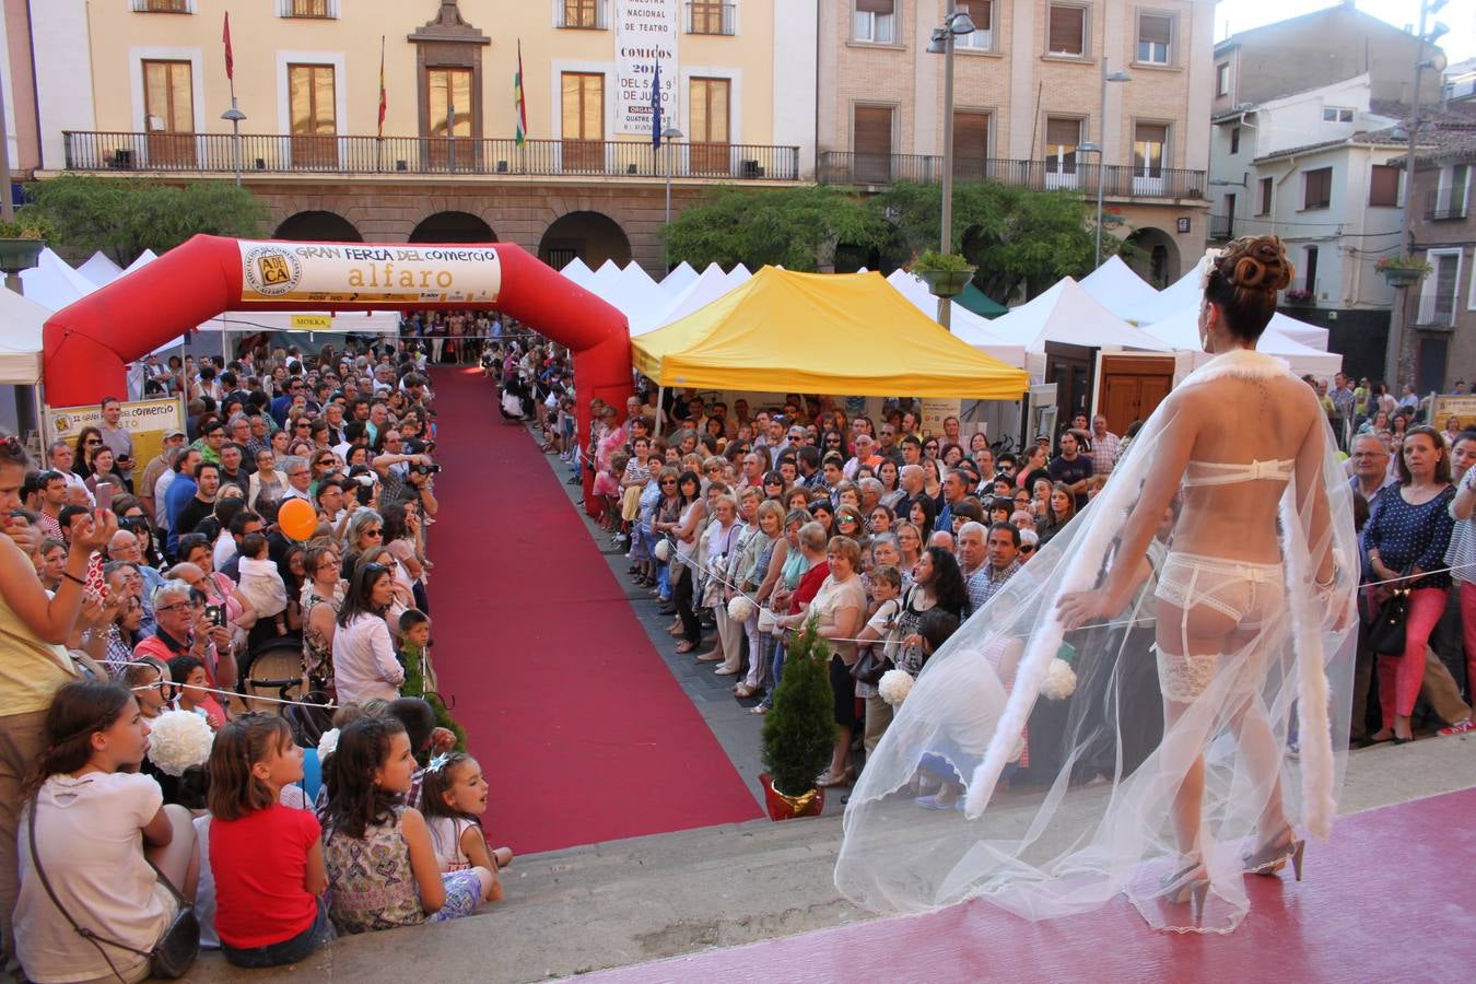
[(438, 370), (435, 668), (520, 854), (753, 820), (747, 782), (480, 370)]

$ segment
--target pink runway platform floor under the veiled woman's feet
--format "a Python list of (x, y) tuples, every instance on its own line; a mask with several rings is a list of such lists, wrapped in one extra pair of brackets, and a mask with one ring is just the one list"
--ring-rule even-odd
[(983, 903), (593, 975), (601, 981), (1472, 981), (1476, 789), (1339, 820), (1297, 884), (1252, 878), (1230, 935), (1159, 932), (1119, 897), (1029, 922)]

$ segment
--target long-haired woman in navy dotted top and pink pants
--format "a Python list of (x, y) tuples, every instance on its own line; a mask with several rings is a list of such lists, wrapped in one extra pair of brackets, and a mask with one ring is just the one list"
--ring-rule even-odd
[[(1411, 589), (1404, 652), (1379, 654), (1379, 704), (1384, 726), (1374, 741), (1392, 738), (1396, 745), (1414, 739), (1410, 714), (1424, 679), (1424, 648), (1445, 614), (1445, 593), (1451, 587), (1451, 575), (1444, 572), (1445, 550), (1451, 543), (1454, 521), (1449, 506), (1455, 499), (1445, 438), (1435, 428), (1410, 428), (1398, 463), (1398, 494), (1382, 496), (1364, 528), (1364, 549), (1373, 574), (1368, 580), (1404, 578)], [(1386, 584), (1382, 592), (1390, 587), (1393, 584)]]

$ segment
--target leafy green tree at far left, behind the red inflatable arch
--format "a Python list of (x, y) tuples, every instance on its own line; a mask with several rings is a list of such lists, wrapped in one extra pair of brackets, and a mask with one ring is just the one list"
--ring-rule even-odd
[(145, 249), (164, 252), (196, 233), (257, 236), (267, 207), (230, 181), (183, 186), (142, 179), (63, 174), (27, 186), (18, 218), (44, 223), (53, 249), (71, 260), (102, 251), (128, 266)]

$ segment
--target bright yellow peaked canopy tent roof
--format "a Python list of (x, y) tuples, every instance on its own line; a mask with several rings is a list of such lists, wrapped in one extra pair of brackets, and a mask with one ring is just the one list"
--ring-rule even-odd
[(949, 335), (880, 273), (763, 267), (630, 347), (636, 369), (663, 387), (1018, 400), (1029, 385), (1024, 370)]

